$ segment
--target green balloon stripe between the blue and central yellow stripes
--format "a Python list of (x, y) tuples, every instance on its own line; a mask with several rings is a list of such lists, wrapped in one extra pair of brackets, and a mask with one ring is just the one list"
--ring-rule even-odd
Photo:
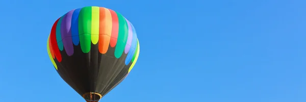
[(88, 53), (91, 46), (91, 7), (84, 7), (79, 15), (79, 35), (83, 53)]

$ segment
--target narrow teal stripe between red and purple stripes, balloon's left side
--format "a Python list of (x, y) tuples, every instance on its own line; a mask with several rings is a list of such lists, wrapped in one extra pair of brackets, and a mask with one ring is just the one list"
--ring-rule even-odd
[[(66, 15), (66, 14), (65, 14), (65, 15)], [(59, 21), (58, 21), (58, 23), (57, 23), (57, 25), (56, 25), (56, 40), (57, 40), (57, 42), (58, 42), (58, 46), (59, 46), (59, 49), (60, 49), (61, 51), (64, 50), (64, 45), (63, 45), (62, 36), (61, 36), (61, 23), (62, 23), (62, 19), (63, 19), (63, 17), (64, 17), (65, 15), (63, 15), (63, 16), (59, 19)]]

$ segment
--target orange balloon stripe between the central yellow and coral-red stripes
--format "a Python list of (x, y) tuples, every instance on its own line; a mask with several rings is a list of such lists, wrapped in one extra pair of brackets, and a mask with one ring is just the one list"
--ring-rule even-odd
[(110, 45), (112, 35), (112, 15), (111, 12), (103, 7), (99, 9), (99, 52), (105, 54)]

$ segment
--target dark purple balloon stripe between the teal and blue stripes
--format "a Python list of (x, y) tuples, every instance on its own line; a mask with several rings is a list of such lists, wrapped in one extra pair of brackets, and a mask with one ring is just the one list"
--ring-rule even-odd
[(62, 19), (61, 34), (63, 45), (68, 56), (73, 55), (73, 42), (71, 37), (71, 18), (74, 10), (69, 11)]

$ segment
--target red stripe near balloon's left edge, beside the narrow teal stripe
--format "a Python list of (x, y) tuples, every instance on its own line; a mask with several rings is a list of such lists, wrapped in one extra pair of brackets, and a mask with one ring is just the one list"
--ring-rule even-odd
[(60, 53), (60, 49), (59, 49), (57, 41), (56, 41), (56, 25), (57, 25), (59, 19), (57, 19), (55, 21), (55, 23), (53, 24), (53, 27), (51, 29), (51, 33), (50, 33), (50, 41), (51, 41), (51, 43), (50, 44), (52, 44), (52, 49), (53, 49), (53, 52), (54, 52), (54, 55), (55, 55), (56, 59), (59, 62), (62, 62), (62, 55)]

